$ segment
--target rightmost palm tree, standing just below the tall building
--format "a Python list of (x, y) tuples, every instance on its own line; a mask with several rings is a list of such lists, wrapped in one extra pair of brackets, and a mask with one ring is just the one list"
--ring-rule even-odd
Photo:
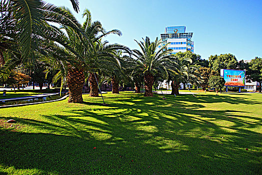
[(172, 65), (173, 68), (171, 68), (169, 71), (169, 79), (171, 79), (171, 94), (178, 95), (178, 89), (180, 82), (189, 82), (193, 81), (198, 83), (197, 77), (199, 76), (199, 73), (196, 72), (198, 69), (198, 66), (191, 65), (192, 60), (190, 58), (181, 57), (181, 58), (175, 58)]

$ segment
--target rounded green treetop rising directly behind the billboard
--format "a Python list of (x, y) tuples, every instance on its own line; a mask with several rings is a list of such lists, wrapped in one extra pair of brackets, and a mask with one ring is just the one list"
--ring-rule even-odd
[(209, 67), (216, 71), (216, 74), (220, 74), (220, 69), (235, 69), (237, 67), (237, 59), (234, 55), (220, 54), (209, 56)]

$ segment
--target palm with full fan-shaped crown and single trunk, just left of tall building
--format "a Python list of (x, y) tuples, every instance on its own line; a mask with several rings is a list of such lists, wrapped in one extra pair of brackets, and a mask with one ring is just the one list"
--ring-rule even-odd
[[(143, 38), (142, 38), (143, 39)], [(135, 40), (136, 41), (136, 40)], [(167, 68), (170, 66), (170, 54), (171, 50), (165, 49), (165, 46), (158, 47), (161, 41), (156, 39), (150, 41), (149, 37), (145, 37), (140, 42), (136, 43), (139, 45), (141, 51), (134, 49), (133, 55), (137, 60), (137, 65), (134, 69), (137, 72), (143, 73), (144, 77), (144, 96), (153, 96), (152, 85), (154, 81), (154, 76), (158, 74), (167, 76)], [(157, 48), (159, 48), (157, 50)]]

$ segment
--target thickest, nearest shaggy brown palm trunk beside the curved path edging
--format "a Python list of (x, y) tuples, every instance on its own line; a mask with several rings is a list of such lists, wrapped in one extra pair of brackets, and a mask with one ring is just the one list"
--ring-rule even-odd
[(67, 74), (67, 84), (69, 87), (68, 102), (83, 102), (82, 87), (84, 83), (84, 74), (82, 69), (71, 68)]

